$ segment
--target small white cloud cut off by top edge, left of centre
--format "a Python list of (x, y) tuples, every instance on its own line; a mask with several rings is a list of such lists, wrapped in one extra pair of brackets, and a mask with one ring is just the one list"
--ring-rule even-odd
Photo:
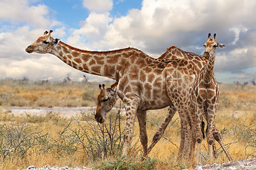
[(112, 9), (112, 0), (83, 0), (82, 5), (91, 12), (106, 13)]

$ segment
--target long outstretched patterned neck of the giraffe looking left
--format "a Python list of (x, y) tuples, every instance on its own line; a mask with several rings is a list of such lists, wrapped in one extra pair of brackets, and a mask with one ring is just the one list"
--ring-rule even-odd
[[(105, 52), (80, 50), (59, 42), (50, 54), (82, 72), (118, 80), (120, 69), (124, 68), (122, 58), (132, 55), (134, 48)], [(139, 51), (139, 50), (138, 50)]]

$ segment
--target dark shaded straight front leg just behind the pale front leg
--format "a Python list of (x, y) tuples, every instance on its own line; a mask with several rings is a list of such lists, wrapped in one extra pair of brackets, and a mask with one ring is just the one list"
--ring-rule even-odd
[(139, 138), (143, 147), (142, 159), (144, 159), (148, 154), (147, 152), (148, 137), (146, 135), (146, 111), (137, 111), (137, 118), (139, 121)]

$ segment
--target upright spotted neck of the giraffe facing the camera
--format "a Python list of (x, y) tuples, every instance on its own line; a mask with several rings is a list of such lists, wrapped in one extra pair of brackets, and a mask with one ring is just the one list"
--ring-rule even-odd
[(215, 51), (210, 51), (210, 57), (206, 63), (206, 69), (204, 69), (203, 81), (205, 84), (210, 84), (210, 81), (213, 79), (213, 68), (215, 62)]

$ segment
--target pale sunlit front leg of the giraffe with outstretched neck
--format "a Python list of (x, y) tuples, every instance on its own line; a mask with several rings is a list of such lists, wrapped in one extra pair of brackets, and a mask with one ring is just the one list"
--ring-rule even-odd
[(127, 155), (129, 145), (132, 140), (132, 135), (134, 132), (134, 120), (137, 113), (139, 98), (137, 96), (129, 96), (129, 98), (124, 98), (124, 105), (126, 111), (126, 126), (124, 130), (124, 147), (122, 150), (122, 156)]

